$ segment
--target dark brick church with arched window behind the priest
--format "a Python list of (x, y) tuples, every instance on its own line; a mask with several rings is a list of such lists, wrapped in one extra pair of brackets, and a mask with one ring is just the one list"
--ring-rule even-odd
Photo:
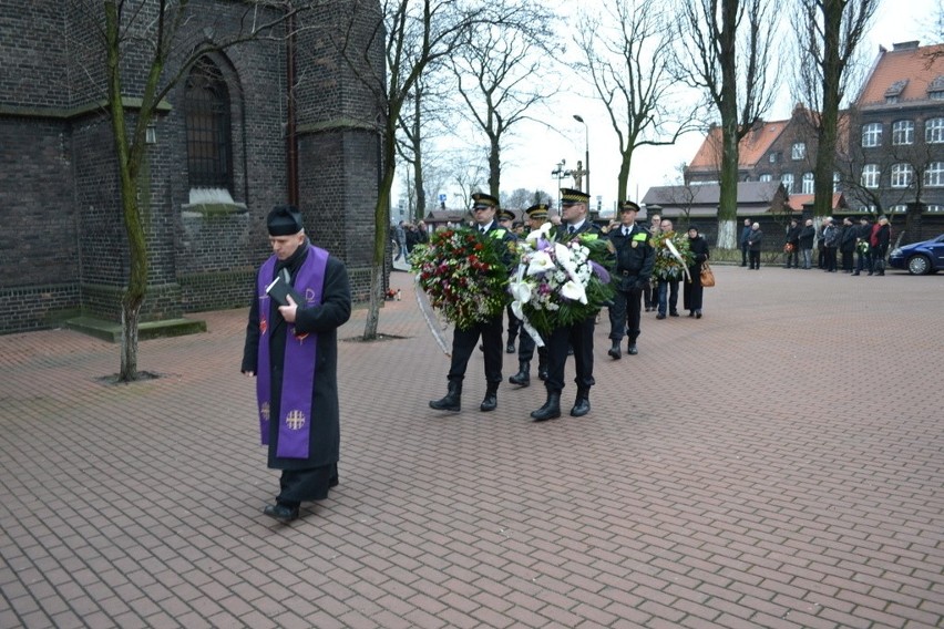
[[(142, 321), (247, 305), (268, 251), (265, 216), (296, 198), (315, 243), (347, 262), (355, 300), (367, 299), (381, 110), (326, 35), (348, 25), (347, 4), (308, 13), (294, 38), (284, 23), (274, 37), (204, 55), (166, 94), (143, 167)], [(0, 0), (0, 333), (79, 313), (120, 318), (129, 255), (103, 107), (101, 7)], [(181, 40), (225, 40), (246, 7), (191, 2)], [(252, 17), (261, 23), (279, 11), (273, 3)], [(136, 18), (142, 29), (154, 23)], [(382, 50), (367, 43), (372, 28), (365, 18), (349, 41), (382, 73)], [(130, 116), (147, 70), (135, 45), (130, 39), (123, 56)], [(175, 59), (165, 76), (179, 70)]]

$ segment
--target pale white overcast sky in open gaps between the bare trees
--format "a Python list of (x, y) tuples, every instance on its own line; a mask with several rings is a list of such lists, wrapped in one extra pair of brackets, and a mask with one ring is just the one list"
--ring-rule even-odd
[[(588, 7), (598, 0), (581, 0), (568, 3)], [(683, 0), (684, 1), (684, 0)], [(879, 45), (887, 49), (896, 42), (921, 40), (922, 45), (938, 43), (928, 41), (933, 32), (933, 20), (936, 7), (941, 0), (883, 0), (872, 32), (865, 44), (869, 63), (871, 64), (879, 52)], [(786, 7), (788, 3), (782, 3)], [(570, 44), (573, 45), (573, 44)], [(788, 74), (788, 73), (782, 73)], [(589, 95), (585, 87), (584, 94)], [(853, 95), (854, 96), (854, 95)], [(784, 120), (789, 117), (796, 100), (790, 95), (789, 85), (783, 84), (774, 107), (766, 116), (767, 120)], [(587, 123), (586, 127), (573, 118), (579, 114)], [(617, 142), (610, 126), (608, 115), (603, 104), (592, 97), (575, 94), (562, 95), (552, 107), (546, 122), (556, 131), (547, 131), (544, 126), (521, 123), (510, 146), (503, 147), (502, 154), (502, 190), (511, 193), (516, 188), (544, 189), (555, 194), (557, 178), (552, 171), (561, 159), (566, 159), (565, 168), (575, 166), (584, 159), (585, 141), (588, 141), (591, 154), (591, 195), (593, 204), (601, 195), (604, 209), (612, 208), (616, 203), (616, 177), (619, 168)], [(715, 114), (717, 120), (717, 114)], [(710, 122), (704, 121), (704, 122)], [(585, 134), (585, 128), (587, 133)], [(679, 179), (678, 165), (687, 163), (701, 144), (702, 136), (688, 134), (674, 146), (640, 147), (634, 154), (633, 168), (629, 174), (629, 196), (640, 199), (650, 186), (677, 183)], [(398, 169), (398, 179), (402, 172)], [(570, 178), (561, 181), (567, 187), (573, 184)], [(394, 188), (394, 196), (397, 198)], [(459, 203), (455, 190), (441, 190), (448, 194), (448, 205), (454, 207)], [(394, 210), (396, 212), (396, 210)]]

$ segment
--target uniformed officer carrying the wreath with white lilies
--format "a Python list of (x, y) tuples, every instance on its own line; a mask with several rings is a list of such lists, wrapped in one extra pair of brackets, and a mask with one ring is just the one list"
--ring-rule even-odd
[[(599, 238), (599, 228), (587, 217), (589, 195), (573, 188), (561, 188), (561, 225), (555, 227), (558, 240), (571, 238)], [(545, 339), (547, 344), (547, 400), (544, 405), (533, 411), (531, 416), (536, 422), (544, 422), (561, 416), (561, 392), (564, 390), (564, 364), (567, 361), (567, 346), (574, 348), (574, 367), (577, 377), (577, 396), (571, 415), (581, 417), (589, 413), (589, 390), (595, 384), (593, 379), (593, 330), (596, 314), (572, 326), (557, 327)]]

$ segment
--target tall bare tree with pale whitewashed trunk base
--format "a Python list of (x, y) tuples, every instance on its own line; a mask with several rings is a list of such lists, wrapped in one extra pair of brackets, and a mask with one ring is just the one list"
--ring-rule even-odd
[(737, 243), (738, 144), (772, 103), (776, 27), (770, 0), (690, 0), (675, 23), (678, 76), (704, 90), (721, 117), (720, 248)]

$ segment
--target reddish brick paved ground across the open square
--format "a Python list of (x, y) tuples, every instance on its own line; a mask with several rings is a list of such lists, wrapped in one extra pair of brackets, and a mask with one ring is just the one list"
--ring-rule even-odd
[(599, 326), (593, 412), (533, 424), (536, 385), (478, 411), (478, 354), (462, 413), (427, 406), (448, 363), (394, 274), (404, 338), (342, 344), (341, 485), (290, 526), (245, 310), (127, 386), (115, 346), (0, 337), (0, 627), (944, 625), (944, 275), (716, 275), (637, 357)]

